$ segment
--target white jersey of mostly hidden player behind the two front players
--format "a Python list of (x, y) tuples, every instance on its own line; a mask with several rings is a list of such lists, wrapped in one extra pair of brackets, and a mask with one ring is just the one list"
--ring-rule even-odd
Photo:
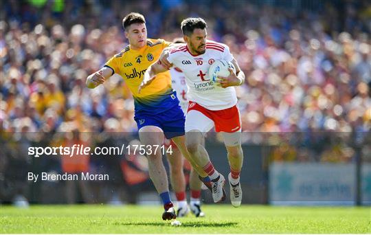
[(170, 69), (170, 76), (171, 76), (171, 86), (172, 89), (177, 91), (177, 97), (180, 101), (181, 109), (183, 109), (184, 113), (187, 113), (188, 109), (188, 100), (187, 100), (187, 91), (188, 87), (186, 84), (186, 76), (184, 76), (183, 72), (175, 67)]

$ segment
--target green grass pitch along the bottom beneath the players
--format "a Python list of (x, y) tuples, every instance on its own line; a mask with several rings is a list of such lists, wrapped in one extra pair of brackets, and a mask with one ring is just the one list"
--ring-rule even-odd
[(40, 205), (0, 207), (1, 233), (364, 234), (370, 208), (204, 205), (205, 218), (188, 215), (173, 227), (160, 206)]

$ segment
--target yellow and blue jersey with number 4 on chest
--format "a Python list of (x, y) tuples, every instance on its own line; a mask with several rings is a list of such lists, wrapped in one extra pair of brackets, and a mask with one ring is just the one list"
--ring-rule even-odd
[(150, 113), (161, 113), (179, 105), (171, 87), (170, 72), (157, 74), (157, 77), (146, 88), (138, 93), (138, 87), (142, 83), (144, 72), (161, 55), (162, 50), (170, 45), (162, 39), (147, 39), (146, 46), (139, 50), (131, 49), (130, 45), (125, 47), (119, 54), (113, 56), (105, 67), (120, 74), (133, 93), (135, 113), (148, 111)]

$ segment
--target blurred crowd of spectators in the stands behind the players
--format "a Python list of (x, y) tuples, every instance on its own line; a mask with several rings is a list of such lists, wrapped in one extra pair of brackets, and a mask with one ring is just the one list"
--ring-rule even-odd
[(236, 88), (244, 144), (277, 146), (269, 159), (278, 161), (335, 162), (355, 161), (360, 146), (371, 161), (368, 0), (5, 0), (0, 139), (8, 147), (0, 150), (7, 153), (0, 172), (10, 162), (30, 167), (19, 149), (41, 139), (56, 144), (60, 133), (101, 133), (89, 136), (91, 145), (108, 138), (102, 133), (136, 138), (124, 80), (115, 75), (85, 87), (87, 76), (128, 44), (122, 18), (132, 11), (146, 17), (148, 38), (172, 41), (183, 19), (201, 16), (209, 38), (230, 47), (246, 74)]

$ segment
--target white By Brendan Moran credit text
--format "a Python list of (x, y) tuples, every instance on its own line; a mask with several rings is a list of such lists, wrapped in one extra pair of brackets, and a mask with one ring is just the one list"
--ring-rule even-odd
[(38, 180), (41, 181), (108, 181), (109, 175), (107, 174), (91, 174), (89, 172), (81, 172), (78, 174), (56, 174), (49, 172), (41, 172), (40, 174), (34, 174), (33, 172), (27, 173), (27, 180), (36, 183)]

